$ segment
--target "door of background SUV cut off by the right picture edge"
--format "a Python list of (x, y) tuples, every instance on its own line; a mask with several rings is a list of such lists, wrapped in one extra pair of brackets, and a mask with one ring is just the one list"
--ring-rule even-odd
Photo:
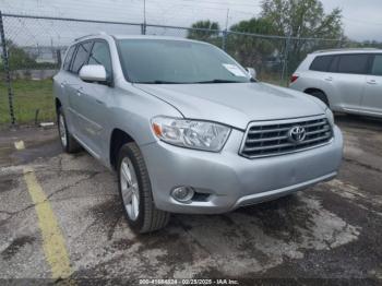
[(382, 116), (382, 53), (372, 57), (370, 74), (366, 79), (362, 109)]

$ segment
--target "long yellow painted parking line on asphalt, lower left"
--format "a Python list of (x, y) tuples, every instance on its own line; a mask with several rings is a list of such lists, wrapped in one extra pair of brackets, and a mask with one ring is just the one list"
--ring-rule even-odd
[(35, 204), (38, 226), (43, 236), (44, 253), (50, 265), (52, 278), (67, 278), (73, 271), (56, 215), (32, 168), (24, 168), (24, 179)]

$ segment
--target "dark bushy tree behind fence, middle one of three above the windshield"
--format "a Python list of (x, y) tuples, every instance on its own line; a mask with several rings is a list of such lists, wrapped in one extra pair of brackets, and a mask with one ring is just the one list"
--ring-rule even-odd
[[(273, 35), (274, 27), (267, 19), (252, 17), (241, 21), (230, 27), (228, 35), (228, 52), (240, 63), (247, 67), (255, 67), (259, 72), (267, 57), (276, 50), (276, 43), (270, 38), (262, 38), (240, 33)], [(235, 33), (238, 32), (238, 33)]]

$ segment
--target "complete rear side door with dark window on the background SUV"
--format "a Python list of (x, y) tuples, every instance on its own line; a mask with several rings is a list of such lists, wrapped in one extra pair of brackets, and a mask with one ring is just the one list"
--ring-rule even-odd
[[(347, 53), (335, 56), (325, 81), (333, 84), (338, 105), (344, 109), (359, 110), (366, 85), (368, 55)], [(336, 65), (336, 67), (335, 67)]]

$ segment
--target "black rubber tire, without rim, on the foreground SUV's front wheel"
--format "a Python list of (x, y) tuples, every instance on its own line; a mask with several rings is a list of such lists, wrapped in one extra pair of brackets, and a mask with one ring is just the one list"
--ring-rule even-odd
[[(124, 158), (129, 158), (133, 165), (138, 187), (139, 187), (139, 214), (135, 221), (129, 217), (127, 207), (122, 198), (122, 187), (121, 187), (121, 164)], [(124, 144), (118, 156), (118, 189), (120, 193), (120, 199), (122, 202), (122, 207), (131, 229), (136, 234), (145, 234), (154, 230), (164, 228), (170, 218), (170, 214), (160, 210), (157, 210), (152, 193), (152, 187), (150, 182), (150, 177), (147, 172), (146, 165), (144, 163), (143, 156), (139, 146), (135, 143)]]

